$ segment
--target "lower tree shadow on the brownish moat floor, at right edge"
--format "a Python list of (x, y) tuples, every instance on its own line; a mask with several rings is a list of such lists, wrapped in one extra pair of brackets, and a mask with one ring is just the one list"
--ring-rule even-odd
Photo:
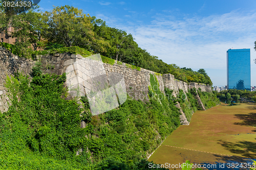
[[(256, 147), (255, 147), (256, 142), (239, 141), (236, 143), (232, 143), (232, 142), (227, 142), (223, 140), (218, 140), (218, 141), (219, 141), (218, 144), (221, 144), (222, 147), (224, 147), (226, 150), (230, 151), (231, 153), (240, 154), (246, 158), (252, 158), (252, 159), (256, 158)], [(241, 157), (236, 158), (235, 156), (232, 156), (231, 158), (234, 160), (239, 158), (241, 159)]]

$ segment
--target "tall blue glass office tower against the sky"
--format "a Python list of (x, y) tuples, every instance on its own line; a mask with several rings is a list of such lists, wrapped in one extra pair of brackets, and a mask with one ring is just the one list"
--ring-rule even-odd
[(227, 51), (227, 88), (251, 90), (250, 49)]

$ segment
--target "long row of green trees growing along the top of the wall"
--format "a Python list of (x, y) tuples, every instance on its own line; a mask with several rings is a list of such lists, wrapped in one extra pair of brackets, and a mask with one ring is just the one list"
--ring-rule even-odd
[[(0, 17), (5, 16), (1, 15)], [(9, 19), (10, 20), (10, 19)], [(135, 42), (134, 37), (126, 31), (106, 26), (105, 21), (84, 14), (72, 6), (55, 7), (45, 13), (26, 12), (19, 19), (11, 19), (15, 29), (13, 37), (20, 53), (30, 53), (27, 47), (46, 50), (61, 46), (78, 46), (92, 53), (125, 62), (161, 74), (172, 74), (184, 82), (198, 82), (212, 85), (206, 71), (201, 68), (180, 68), (176, 64), (166, 64), (157, 56), (152, 56)], [(3, 24), (2, 24), (3, 22)], [(7, 20), (0, 21), (0, 27), (7, 28)], [(56, 45), (59, 44), (59, 45)], [(49, 45), (51, 46), (49, 48)]]

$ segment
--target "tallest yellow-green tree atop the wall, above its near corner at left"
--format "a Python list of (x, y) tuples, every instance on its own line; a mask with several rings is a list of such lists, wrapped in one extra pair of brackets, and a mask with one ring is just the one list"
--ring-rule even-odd
[(50, 42), (67, 47), (80, 46), (90, 50), (95, 42), (91, 16), (72, 6), (55, 7), (45, 12), (49, 29), (47, 37)]

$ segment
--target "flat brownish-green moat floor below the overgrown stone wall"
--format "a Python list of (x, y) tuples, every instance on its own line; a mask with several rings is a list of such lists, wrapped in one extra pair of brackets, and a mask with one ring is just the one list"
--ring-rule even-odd
[(170, 134), (148, 160), (160, 164), (179, 164), (186, 160), (213, 164), (243, 162), (241, 157), (256, 158), (254, 103), (235, 106), (222, 103), (206, 111), (196, 111), (190, 125), (180, 126)]

